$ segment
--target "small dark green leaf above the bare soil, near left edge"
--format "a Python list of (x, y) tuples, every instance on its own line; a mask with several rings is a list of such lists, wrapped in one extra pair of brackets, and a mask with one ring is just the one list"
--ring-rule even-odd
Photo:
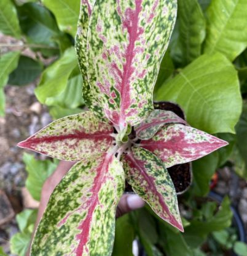
[(27, 56), (20, 56), (18, 66), (9, 75), (10, 85), (27, 85), (34, 81), (42, 72), (42, 64)]

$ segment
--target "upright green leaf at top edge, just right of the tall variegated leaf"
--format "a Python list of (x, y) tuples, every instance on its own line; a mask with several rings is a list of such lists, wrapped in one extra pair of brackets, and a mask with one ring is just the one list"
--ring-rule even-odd
[(189, 64), (201, 54), (206, 35), (206, 21), (197, 0), (179, 0), (178, 16), (182, 63)]

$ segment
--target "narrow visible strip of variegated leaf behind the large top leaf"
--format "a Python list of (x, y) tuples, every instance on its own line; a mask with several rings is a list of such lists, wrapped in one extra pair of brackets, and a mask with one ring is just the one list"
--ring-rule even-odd
[(95, 101), (87, 79), (86, 51), (87, 31), (95, 0), (82, 0), (80, 2), (80, 16), (76, 35), (76, 53), (79, 61), (80, 72), (82, 73), (83, 86), (82, 94), (88, 108), (94, 112), (100, 120), (104, 118), (103, 109)]

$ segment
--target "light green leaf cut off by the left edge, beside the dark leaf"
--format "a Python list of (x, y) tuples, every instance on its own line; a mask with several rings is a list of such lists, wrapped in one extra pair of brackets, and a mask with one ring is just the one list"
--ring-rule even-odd
[(7, 52), (0, 56), (0, 116), (4, 115), (5, 97), (4, 86), (7, 84), (9, 74), (17, 68), (20, 52)]

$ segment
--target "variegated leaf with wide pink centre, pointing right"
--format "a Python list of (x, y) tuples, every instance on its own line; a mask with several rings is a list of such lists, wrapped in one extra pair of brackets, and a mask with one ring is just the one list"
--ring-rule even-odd
[(176, 123), (164, 126), (153, 138), (141, 141), (139, 146), (160, 157), (168, 168), (199, 159), (227, 144), (208, 133)]

